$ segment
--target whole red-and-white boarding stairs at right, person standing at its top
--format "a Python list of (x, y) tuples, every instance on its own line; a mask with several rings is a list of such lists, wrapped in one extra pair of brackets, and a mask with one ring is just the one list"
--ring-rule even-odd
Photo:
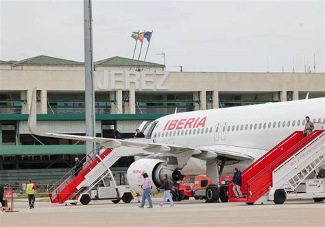
[(228, 202), (264, 202), (276, 189), (294, 191), (325, 161), (325, 131), (314, 130), (309, 136), (293, 132), (241, 175), (243, 198), (234, 198), (229, 185)]

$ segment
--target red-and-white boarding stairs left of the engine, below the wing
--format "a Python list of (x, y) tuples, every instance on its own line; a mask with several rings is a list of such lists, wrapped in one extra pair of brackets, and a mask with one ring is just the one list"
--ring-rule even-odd
[[(94, 150), (84, 158), (87, 161), (83, 164), (82, 170), (77, 176), (75, 176), (75, 169), (73, 168), (49, 189), (51, 202), (62, 204), (95, 186), (105, 176), (112, 174), (109, 168), (120, 157), (120, 155), (117, 155), (116, 150), (108, 148)], [(119, 197), (118, 191), (117, 197)]]

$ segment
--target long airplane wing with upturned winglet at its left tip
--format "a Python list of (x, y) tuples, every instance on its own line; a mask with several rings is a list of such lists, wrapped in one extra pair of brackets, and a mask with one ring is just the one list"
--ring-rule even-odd
[[(196, 156), (200, 159), (207, 159), (219, 156), (225, 156), (228, 158), (234, 158), (236, 160), (247, 160), (252, 159), (252, 157), (245, 154), (240, 154), (236, 152), (228, 152), (226, 150), (209, 150), (209, 149), (197, 149), (195, 147), (186, 147), (178, 145), (169, 145), (163, 143), (149, 143), (145, 141), (134, 141), (134, 140), (123, 140), (123, 139), (110, 139), (102, 137), (93, 136), (77, 136), (71, 134), (58, 134), (49, 132), (40, 132), (37, 128), (36, 120), (36, 88), (34, 88), (32, 95), (32, 105), (28, 117), (28, 129), (32, 134), (38, 136), (54, 137), (60, 139), (71, 139), (77, 141), (90, 141), (94, 143), (99, 143), (100, 145), (108, 148), (117, 148), (121, 146), (125, 147), (136, 147), (145, 150), (150, 153), (170, 153), (170, 154), (186, 154)], [(207, 147), (208, 148), (208, 147)]]

